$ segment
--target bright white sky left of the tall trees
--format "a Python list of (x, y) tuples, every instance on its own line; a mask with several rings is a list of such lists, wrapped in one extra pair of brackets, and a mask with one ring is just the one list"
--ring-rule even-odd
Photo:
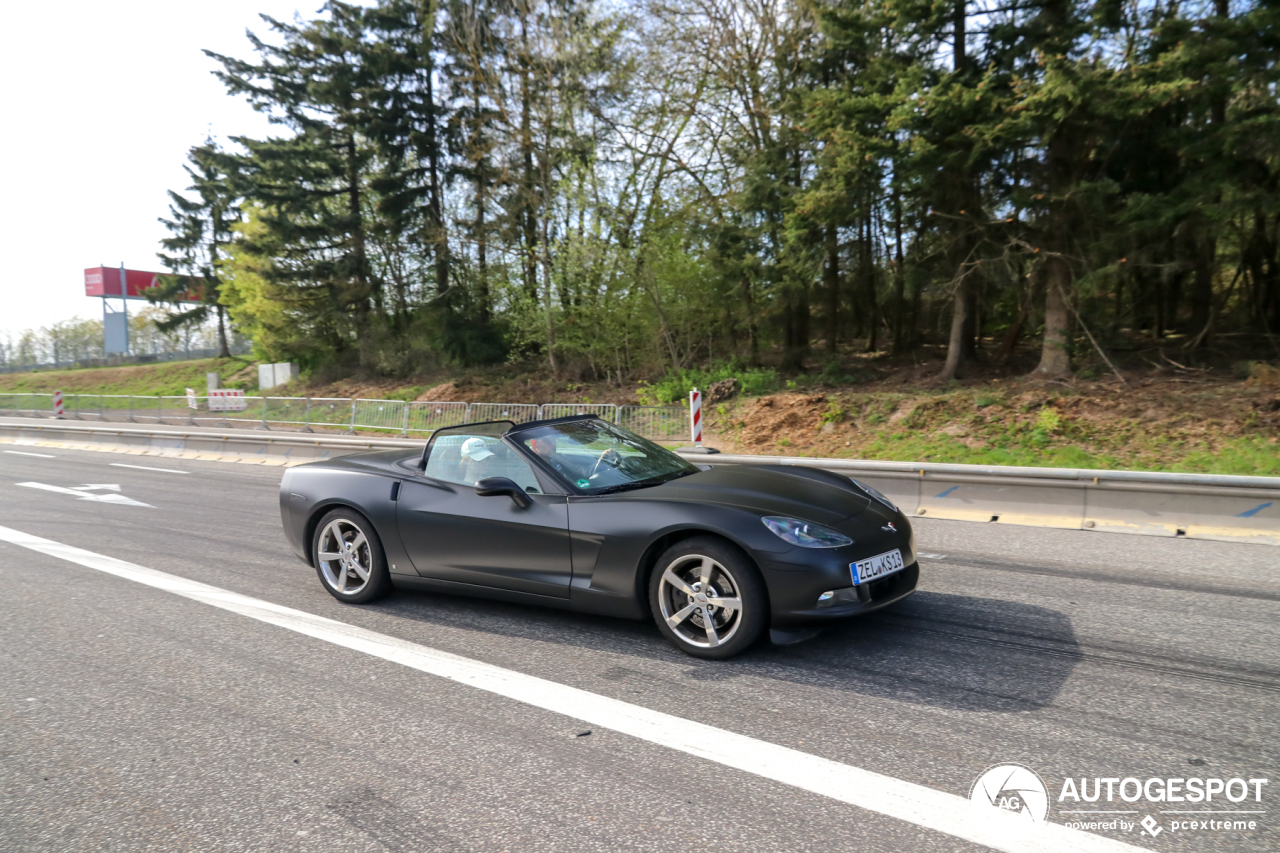
[[(99, 318), (86, 266), (159, 270), (168, 190), (187, 150), (265, 136), (201, 49), (250, 55), (259, 13), (312, 17), (321, 0), (119, 0), (6, 5), (0, 79), (0, 332)], [(138, 304), (133, 304), (138, 305)], [(131, 310), (132, 310), (131, 305)]]

